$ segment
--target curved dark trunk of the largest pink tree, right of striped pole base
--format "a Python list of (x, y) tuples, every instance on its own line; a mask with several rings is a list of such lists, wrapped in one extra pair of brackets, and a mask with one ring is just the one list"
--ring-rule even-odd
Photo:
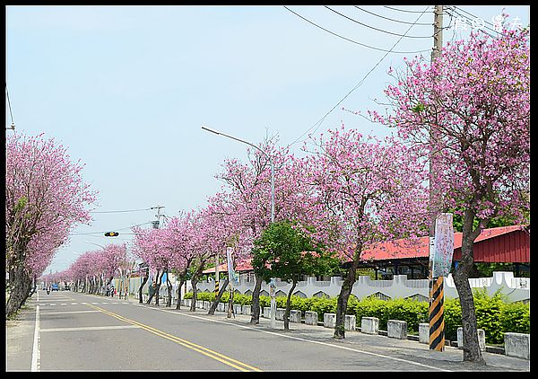
[(464, 361), (485, 365), (478, 342), (478, 326), (474, 308), (473, 291), (469, 284), (469, 274), (473, 269), (473, 242), (481, 233), (481, 227), (473, 230), (474, 214), (467, 210), (464, 216), (462, 235), (462, 259), (454, 272), (454, 283), (462, 308), (462, 329), (464, 339)]

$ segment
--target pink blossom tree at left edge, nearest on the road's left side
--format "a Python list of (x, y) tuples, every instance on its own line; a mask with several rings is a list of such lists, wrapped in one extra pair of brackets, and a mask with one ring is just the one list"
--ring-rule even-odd
[[(6, 315), (29, 295), (32, 278), (45, 269), (77, 223), (89, 223), (95, 192), (82, 181), (82, 164), (43, 135), (13, 133), (6, 141), (6, 269), (11, 294)], [(37, 271), (33, 271), (37, 270)]]

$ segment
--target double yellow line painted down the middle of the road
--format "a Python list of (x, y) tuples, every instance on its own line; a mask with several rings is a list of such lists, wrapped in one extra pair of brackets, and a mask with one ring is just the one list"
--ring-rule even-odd
[(153, 334), (156, 334), (157, 336), (162, 337), (163, 339), (169, 339), (169, 340), (171, 340), (173, 342), (176, 342), (178, 345), (182, 345), (182, 346), (184, 346), (186, 348), (190, 348), (191, 350), (195, 350), (200, 354), (204, 354), (204, 356), (206, 356), (206, 357), (211, 357), (211, 358), (213, 358), (215, 360), (218, 360), (219, 362), (223, 363), (224, 365), (228, 365), (230, 367), (234, 367), (234, 368), (237, 368), (240, 371), (245, 371), (245, 372), (262, 371), (259, 368), (256, 368), (254, 366), (249, 366), (246, 363), (239, 362), (236, 359), (226, 357), (226, 356), (224, 356), (224, 355), (222, 355), (220, 353), (217, 353), (216, 351), (213, 351), (213, 350), (211, 350), (209, 348), (204, 348), (203, 346), (196, 345), (193, 342), (187, 341), (187, 339), (180, 339), (179, 337), (173, 336), (173, 335), (171, 335), (169, 333), (165, 333), (164, 331), (159, 331), (158, 329), (152, 328), (149, 325), (145, 325), (145, 324), (143, 324), (141, 322), (135, 322), (134, 320), (127, 319), (126, 317), (120, 316), (117, 313), (111, 313), (111, 312), (107, 311), (106, 309), (100, 308), (98, 306), (95, 306), (95, 305), (92, 305), (92, 304), (87, 304), (87, 305), (90, 306), (91, 308), (97, 310), (97, 311), (100, 311), (102, 313), (106, 313), (109, 316), (112, 316), (112, 317), (116, 318), (117, 320), (120, 320), (122, 322), (128, 322), (130, 324), (139, 326), (140, 328), (142, 328), (142, 329), (144, 329), (146, 331), (149, 331), (149, 332), (151, 332)]

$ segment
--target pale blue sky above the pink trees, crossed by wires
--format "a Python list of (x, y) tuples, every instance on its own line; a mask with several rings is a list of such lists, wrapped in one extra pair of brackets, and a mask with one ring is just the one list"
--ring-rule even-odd
[[(84, 252), (130, 243), (130, 228), (204, 207), (215, 175), (277, 137), (295, 154), (312, 133), (391, 131), (358, 116), (385, 110), (390, 67), (430, 60), (433, 5), (6, 6), (5, 124), (54, 138), (97, 190), (45, 273)], [(443, 44), (473, 29), (530, 22), (528, 5), (445, 8)], [(419, 52), (417, 52), (419, 51)], [(386, 101), (385, 101), (386, 102)], [(11, 109), (10, 109), (11, 108)], [(166, 218), (161, 217), (161, 223)], [(116, 231), (117, 237), (105, 232)]]

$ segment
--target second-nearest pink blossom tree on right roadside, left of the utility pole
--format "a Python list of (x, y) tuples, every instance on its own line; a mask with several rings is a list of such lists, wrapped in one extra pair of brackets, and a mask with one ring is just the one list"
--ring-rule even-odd
[(334, 338), (343, 339), (344, 315), (361, 253), (379, 242), (421, 234), (427, 217), (424, 163), (387, 138), (362, 137), (356, 130), (329, 130), (312, 140), (310, 181), (322, 212), (317, 239), (348, 267), (336, 308)]

